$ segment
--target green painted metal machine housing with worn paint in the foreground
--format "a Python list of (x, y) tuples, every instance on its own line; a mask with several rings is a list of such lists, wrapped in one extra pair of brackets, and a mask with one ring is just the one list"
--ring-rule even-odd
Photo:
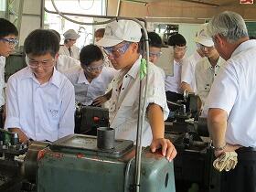
[[(71, 148), (47, 148), (38, 161), (37, 192), (131, 191), (134, 179), (133, 157), (133, 148), (119, 157), (97, 155), (86, 149), (74, 149), (72, 153)], [(128, 170), (130, 160), (132, 163)], [(125, 171), (128, 173), (126, 180)], [(124, 183), (127, 184), (125, 187)], [(142, 192), (175, 192), (173, 163), (145, 148), (142, 154), (140, 189)]]

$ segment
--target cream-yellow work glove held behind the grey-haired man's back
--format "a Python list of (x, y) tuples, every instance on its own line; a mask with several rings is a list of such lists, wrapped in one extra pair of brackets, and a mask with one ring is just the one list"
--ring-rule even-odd
[(213, 162), (213, 166), (219, 171), (229, 171), (238, 164), (238, 154), (236, 152), (224, 152)]

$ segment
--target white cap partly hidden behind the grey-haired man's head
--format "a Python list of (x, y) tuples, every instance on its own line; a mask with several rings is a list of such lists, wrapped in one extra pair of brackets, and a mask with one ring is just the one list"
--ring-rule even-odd
[(203, 24), (200, 27), (200, 29), (197, 31), (195, 41), (196, 43), (202, 44), (204, 46), (212, 47), (214, 46), (214, 43), (212, 41), (212, 38), (208, 36), (207, 25), (208, 24)]

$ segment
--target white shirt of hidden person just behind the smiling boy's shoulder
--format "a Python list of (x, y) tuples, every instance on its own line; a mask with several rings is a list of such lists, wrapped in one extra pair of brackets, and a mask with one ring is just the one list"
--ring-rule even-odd
[(66, 55), (59, 55), (59, 58), (56, 62), (56, 69), (58, 69), (58, 71), (61, 73), (64, 73), (65, 71), (76, 66), (80, 66), (80, 60), (73, 59)]

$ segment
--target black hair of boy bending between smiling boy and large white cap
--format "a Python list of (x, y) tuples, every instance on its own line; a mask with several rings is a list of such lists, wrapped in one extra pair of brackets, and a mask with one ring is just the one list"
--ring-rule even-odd
[(89, 66), (93, 61), (103, 59), (101, 48), (93, 44), (87, 45), (80, 50), (80, 64)]

